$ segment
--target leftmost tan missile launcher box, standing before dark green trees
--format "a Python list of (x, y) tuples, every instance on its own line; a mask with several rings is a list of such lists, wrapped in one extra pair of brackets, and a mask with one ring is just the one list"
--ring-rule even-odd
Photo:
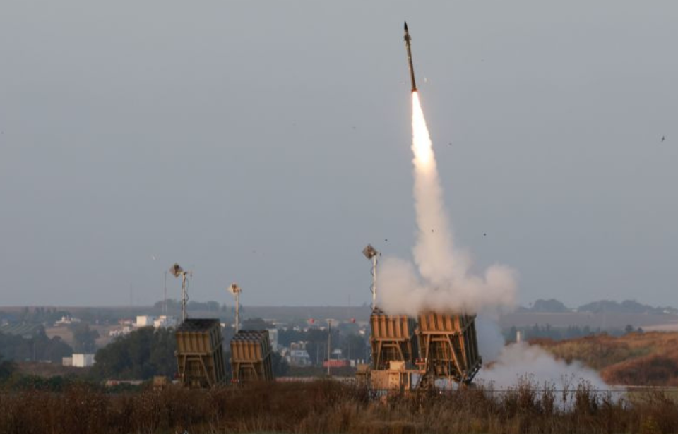
[(226, 380), (221, 325), (216, 319), (188, 318), (177, 332), (179, 381), (185, 387), (214, 387)]

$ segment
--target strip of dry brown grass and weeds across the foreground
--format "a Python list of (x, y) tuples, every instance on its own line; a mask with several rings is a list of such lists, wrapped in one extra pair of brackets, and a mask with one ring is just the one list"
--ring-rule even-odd
[[(214, 390), (168, 387), (107, 394), (0, 392), (0, 432), (40, 433), (675, 433), (678, 406), (661, 392), (631, 402), (585, 385), (566, 394), (521, 383), (379, 399), (338, 382)], [(563, 404), (563, 397), (566, 404)]]

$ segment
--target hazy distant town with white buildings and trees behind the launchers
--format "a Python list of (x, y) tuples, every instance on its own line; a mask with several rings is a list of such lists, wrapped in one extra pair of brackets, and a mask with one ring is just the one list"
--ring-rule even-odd
[[(234, 336), (234, 308), (191, 301), (190, 316), (218, 318), (222, 336)], [(242, 330), (268, 330), (275, 375), (314, 376), (333, 368), (352, 375), (369, 362), (369, 306), (244, 306)], [(135, 307), (0, 308), (0, 354), (33, 375), (85, 375), (105, 381), (143, 381), (176, 375), (176, 300)], [(678, 310), (637, 301), (596, 301), (568, 308), (539, 299), (503, 315), (506, 342), (554, 340), (593, 334), (678, 330)], [(144, 346), (135, 346), (139, 339)], [(228, 346), (225, 344), (225, 351)], [(114, 350), (114, 351), (113, 351)], [(136, 351), (136, 352), (135, 352)], [(229, 354), (225, 354), (228, 360)]]

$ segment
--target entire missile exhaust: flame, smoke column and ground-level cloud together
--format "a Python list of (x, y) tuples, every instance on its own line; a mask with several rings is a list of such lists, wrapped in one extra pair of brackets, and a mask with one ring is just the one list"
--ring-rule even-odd
[[(413, 255), (417, 270), (407, 260), (385, 258), (379, 269), (379, 307), (389, 314), (412, 317), (429, 310), (486, 313), (476, 321), (479, 350), (486, 363), (477, 376), (481, 382), (510, 387), (524, 375), (530, 375), (535, 384), (549, 382), (560, 386), (563, 381), (576, 384), (584, 380), (594, 387), (605, 388), (600, 376), (581, 363), (557, 361), (538, 346), (523, 343), (504, 346), (496, 311), (516, 303), (515, 272), (504, 265), (492, 265), (484, 275), (472, 275), (468, 255), (455, 247), (417, 92), (412, 92), (412, 152), (418, 229)], [(488, 362), (494, 363), (488, 366)]]

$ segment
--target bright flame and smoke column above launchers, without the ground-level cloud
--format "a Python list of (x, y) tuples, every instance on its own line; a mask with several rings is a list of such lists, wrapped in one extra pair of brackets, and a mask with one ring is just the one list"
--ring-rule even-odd
[(482, 277), (470, 275), (468, 255), (454, 247), (433, 145), (417, 92), (412, 92), (412, 152), (418, 228), (413, 255), (418, 276), (406, 261), (384, 260), (379, 270), (379, 306), (387, 313), (407, 315), (429, 309), (477, 313), (483, 308), (513, 306), (513, 270), (492, 265)]

